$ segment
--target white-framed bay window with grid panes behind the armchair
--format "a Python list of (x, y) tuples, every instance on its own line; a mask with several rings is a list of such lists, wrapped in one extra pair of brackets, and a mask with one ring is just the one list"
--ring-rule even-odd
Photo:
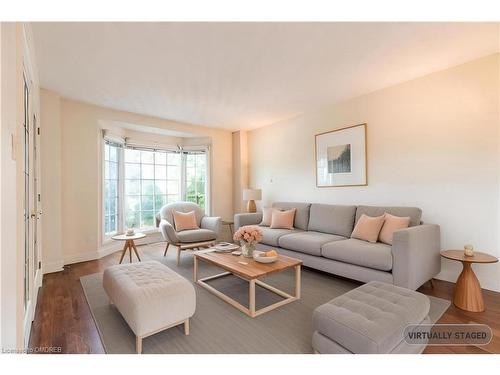
[(104, 142), (104, 234), (150, 230), (167, 203), (208, 209), (208, 152), (133, 147)]

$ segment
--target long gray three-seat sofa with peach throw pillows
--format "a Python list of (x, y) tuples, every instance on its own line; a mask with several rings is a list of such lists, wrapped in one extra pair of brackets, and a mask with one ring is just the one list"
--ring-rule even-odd
[[(439, 226), (422, 224), (419, 208), (290, 202), (277, 202), (273, 207), (297, 210), (294, 229), (260, 226), (264, 233), (261, 244), (301, 259), (307, 267), (361, 282), (382, 281), (413, 290), (441, 270)], [(409, 228), (394, 232), (392, 246), (350, 238), (362, 214), (379, 216), (384, 212), (411, 218)], [(236, 214), (235, 230), (261, 221), (261, 212)]]

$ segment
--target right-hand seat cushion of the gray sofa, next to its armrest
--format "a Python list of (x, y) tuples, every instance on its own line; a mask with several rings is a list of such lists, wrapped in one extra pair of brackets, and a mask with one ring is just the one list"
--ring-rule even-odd
[(391, 247), (380, 242), (371, 243), (355, 238), (330, 242), (321, 247), (321, 255), (325, 258), (381, 271), (392, 269)]

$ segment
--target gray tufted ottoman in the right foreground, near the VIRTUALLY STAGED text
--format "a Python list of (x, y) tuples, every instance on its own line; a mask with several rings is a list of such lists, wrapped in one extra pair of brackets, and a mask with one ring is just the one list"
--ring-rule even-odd
[(428, 324), (429, 298), (413, 290), (371, 281), (313, 313), (317, 353), (421, 353), (425, 345), (403, 340), (408, 324)]

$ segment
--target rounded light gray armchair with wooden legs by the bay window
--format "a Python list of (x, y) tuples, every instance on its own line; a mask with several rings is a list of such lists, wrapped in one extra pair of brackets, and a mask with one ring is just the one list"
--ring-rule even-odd
[[(199, 229), (177, 232), (175, 230), (173, 211), (194, 211)], [(219, 237), (220, 224), (220, 217), (206, 216), (205, 211), (195, 203), (177, 202), (163, 206), (160, 210), (159, 224), (163, 238), (167, 241), (163, 256), (167, 255), (170, 245), (177, 246), (177, 265), (179, 265), (182, 250), (207, 247), (215, 243)]]

